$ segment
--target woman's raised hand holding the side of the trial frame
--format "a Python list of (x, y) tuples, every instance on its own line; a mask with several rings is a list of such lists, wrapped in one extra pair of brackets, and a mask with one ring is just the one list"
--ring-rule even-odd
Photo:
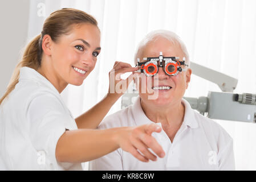
[(109, 88), (108, 96), (118, 100), (119, 97), (126, 92), (128, 85), (133, 80), (133, 73), (125, 80), (121, 79), (121, 75), (127, 72), (137, 71), (138, 67), (132, 67), (128, 63), (116, 61), (113, 65), (113, 69), (108, 73), (109, 75)]

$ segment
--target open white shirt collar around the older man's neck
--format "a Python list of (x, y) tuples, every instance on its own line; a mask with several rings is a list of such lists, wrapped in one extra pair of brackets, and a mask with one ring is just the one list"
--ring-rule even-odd
[[(185, 106), (185, 115), (182, 125), (189, 126), (190, 128), (197, 128), (198, 123), (196, 118), (194, 117), (194, 110), (191, 108), (188, 101), (182, 98), (182, 104)], [(140, 96), (137, 97), (135, 103), (132, 106), (133, 118), (135, 118), (136, 125), (144, 125), (148, 123), (155, 123), (151, 121), (144, 113), (141, 104), (140, 104)], [(161, 125), (161, 123), (159, 123)]]

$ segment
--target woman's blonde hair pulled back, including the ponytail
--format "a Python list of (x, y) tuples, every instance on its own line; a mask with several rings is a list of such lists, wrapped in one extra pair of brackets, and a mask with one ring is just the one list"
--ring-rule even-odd
[(25, 48), (21, 61), (14, 69), (6, 92), (0, 99), (0, 105), (19, 82), (19, 71), (22, 67), (29, 67), (35, 70), (40, 67), (43, 53), (43, 36), (50, 35), (54, 42), (58, 42), (60, 36), (67, 34), (67, 32), (72, 29), (72, 25), (80, 23), (91, 23), (97, 26), (97, 21), (94, 17), (84, 11), (76, 9), (63, 8), (61, 10), (54, 11), (50, 16), (48, 16), (44, 21), (41, 34), (32, 39)]

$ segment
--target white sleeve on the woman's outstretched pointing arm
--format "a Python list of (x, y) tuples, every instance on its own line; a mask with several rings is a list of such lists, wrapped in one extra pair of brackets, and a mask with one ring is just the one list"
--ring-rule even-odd
[(66, 130), (76, 129), (72, 118), (62, 102), (53, 94), (36, 96), (30, 102), (27, 113), (32, 146), (38, 154), (40, 168), (68, 169), (72, 163), (58, 163), (55, 157), (56, 144)]

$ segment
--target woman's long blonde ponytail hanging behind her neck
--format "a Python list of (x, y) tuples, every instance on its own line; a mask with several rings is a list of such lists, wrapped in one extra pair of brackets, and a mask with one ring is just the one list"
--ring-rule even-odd
[(26, 47), (25, 52), (23, 53), (22, 60), (17, 64), (14, 69), (13, 75), (11, 76), (11, 80), (9, 85), (7, 86), (6, 92), (2, 98), (0, 98), (0, 105), (3, 100), (10, 94), (11, 91), (15, 88), (15, 85), (19, 82), (19, 70), (22, 67), (30, 67), (33, 69), (38, 69), (40, 67), (41, 54), (42, 54), (42, 46), (40, 46), (39, 42), (41, 42), (41, 35), (36, 36)]

